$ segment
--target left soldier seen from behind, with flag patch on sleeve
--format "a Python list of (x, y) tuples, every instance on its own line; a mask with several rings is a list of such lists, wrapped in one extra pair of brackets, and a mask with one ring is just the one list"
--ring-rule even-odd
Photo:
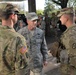
[[(13, 26), (19, 10), (6, 4), (0, 11), (0, 75), (25, 75), (27, 68), (27, 46), (25, 38)], [(21, 74), (24, 70), (25, 74)]]

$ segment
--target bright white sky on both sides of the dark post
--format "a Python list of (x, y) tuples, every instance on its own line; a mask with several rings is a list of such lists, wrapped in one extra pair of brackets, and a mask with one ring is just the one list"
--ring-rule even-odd
[[(4, 1), (4, 2), (6, 2), (6, 1)], [(9, 1), (9, 2), (12, 2), (12, 1)], [(25, 11), (28, 11), (28, 0), (20, 1), (20, 2), (15, 1), (12, 3), (19, 4)], [(45, 0), (36, 0), (36, 9), (37, 10), (39, 10), (39, 9), (44, 10), (44, 4), (45, 4)]]

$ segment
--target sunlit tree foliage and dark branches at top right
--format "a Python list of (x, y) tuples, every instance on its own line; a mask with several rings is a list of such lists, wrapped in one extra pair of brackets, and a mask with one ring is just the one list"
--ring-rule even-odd
[(45, 0), (45, 4), (44, 12), (47, 14), (65, 7), (74, 7), (76, 10), (76, 0)]

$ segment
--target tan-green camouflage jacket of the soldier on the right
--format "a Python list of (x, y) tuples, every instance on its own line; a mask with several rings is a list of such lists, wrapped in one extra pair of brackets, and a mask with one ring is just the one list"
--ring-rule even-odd
[(70, 64), (76, 66), (76, 25), (72, 25), (63, 33), (61, 42), (70, 57)]

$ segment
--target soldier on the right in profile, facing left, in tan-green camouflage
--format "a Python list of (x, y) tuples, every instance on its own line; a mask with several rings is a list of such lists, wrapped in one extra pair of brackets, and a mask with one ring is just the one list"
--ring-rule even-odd
[(60, 14), (61, 23), (67, 27), (61, 36), (61, 43), (65, 46), (68, 54), (68, 63), (63, 65), (62, 75), (76, 75), (76, 25), (73, 23), (73, 8), (64, 8)]

